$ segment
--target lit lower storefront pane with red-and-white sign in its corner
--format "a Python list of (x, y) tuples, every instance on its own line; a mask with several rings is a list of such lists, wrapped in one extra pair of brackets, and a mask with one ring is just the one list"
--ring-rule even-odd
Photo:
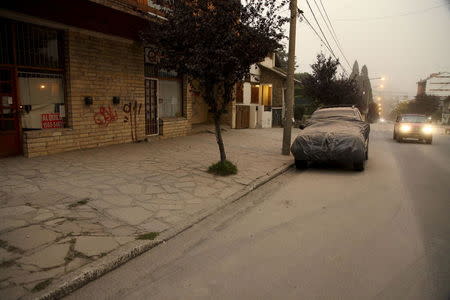
[(19, 72), (24, 130), (64, 127), (64, 86), (61, 74)]

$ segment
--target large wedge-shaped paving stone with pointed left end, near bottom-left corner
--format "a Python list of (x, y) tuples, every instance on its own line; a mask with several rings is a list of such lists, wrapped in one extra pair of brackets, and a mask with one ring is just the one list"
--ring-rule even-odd
[(54, 244), (32, 255), (18, 260), (19, 263), (36, 265), (40, 268), (53, 268), (64, 264), (64, 258), (69, 251), (69, 244)]

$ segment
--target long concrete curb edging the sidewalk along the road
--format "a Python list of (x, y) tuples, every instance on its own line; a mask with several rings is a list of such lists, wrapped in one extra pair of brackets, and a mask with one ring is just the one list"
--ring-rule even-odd
[(238, 201), (239, 199), (246, 196), (250, 192), (254, 191), (258, 187), (269, 182), (275, 177), (283, 174), (284, 172), (289, 170), (292, 166), (293, 164), (291, 163), (285, 163), (283, 166), (274, 169), (271, 172), (266, 173), (266, 175), (263, 175), (255, 179), (250, 184), (246, 185), (242, 190), (228, 197), (223, 203), (215, 207), (211, 207), (209, 209), (200, 211), (199, 214), (189, 218), (186, 221), (181, 222), (180, 224), (177, 224), (176, 226), (168, 229), (167, 231), (162, 232), (157, 239), (153, 241), (136, 240), (134, 242), (128, 243), (112, 251), (105, 257), (63, 276), (60, 280), (51, 284), (50, 287), (47, 288), (46, 290), (34, 295), (26, 296), (25, 299), (36, 299), (36, 300), (60, 299), (70, 294), (71, 292), (81, 288), (82, 286), (88, 284), (89, 282), (116, 269), (117, 267), (123, 265), (127, 261), (152, 249), (153, 247), (156, 247), (157, 245), (165, 243), (165, 241), (176, 237), (180, 233), (184, 232), (185, 230), (188, 230), (195, 224), (203, 221), (204, 219), (221, 210), (230, 203)]

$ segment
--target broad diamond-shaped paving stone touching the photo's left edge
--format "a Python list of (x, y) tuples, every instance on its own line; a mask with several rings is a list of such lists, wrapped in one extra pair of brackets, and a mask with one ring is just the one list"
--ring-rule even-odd
[(38, 225), (16, 229), (0, 235), (0, 239), (23, 250), (33, 249), (37, 246), (52, 242), (57, 237), (58, 235), (55, 232)]

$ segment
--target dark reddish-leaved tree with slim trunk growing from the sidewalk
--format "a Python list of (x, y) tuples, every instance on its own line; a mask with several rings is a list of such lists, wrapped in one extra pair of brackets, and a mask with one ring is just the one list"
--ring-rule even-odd
[(226, 161), (221, 116), (233, 101), (235, 84), (250, 66), (280, 48), (287, 1), (173, 1), (166, 21), (152, 24), (143, 39), (160, 53), (161, 68), (186, 75), (210, 108), (220, 162)]

